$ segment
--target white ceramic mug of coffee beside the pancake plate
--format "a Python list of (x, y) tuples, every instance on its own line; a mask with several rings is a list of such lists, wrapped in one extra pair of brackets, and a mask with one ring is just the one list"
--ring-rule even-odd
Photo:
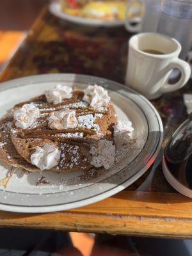
[[(163, 93), (182, 88), (189, 80), (191, 68), (178, 58), (180, 51), (179, 42), (169, 36), (157, 33), (132, 36), (125, 83), (148, 99), (157, 99)], [(181, 76), (177, 83), (169, 84), (173, 68), (178, 68)]]

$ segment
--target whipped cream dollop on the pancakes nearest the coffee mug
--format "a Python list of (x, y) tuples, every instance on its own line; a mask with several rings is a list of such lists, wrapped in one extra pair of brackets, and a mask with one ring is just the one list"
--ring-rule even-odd
[(84, 90), (83, 100), (88, 102), (91, 107), (99, 109), (108, 107), (110, 97), (107, 90), (95, 84), (94, 86), (89, 85)]

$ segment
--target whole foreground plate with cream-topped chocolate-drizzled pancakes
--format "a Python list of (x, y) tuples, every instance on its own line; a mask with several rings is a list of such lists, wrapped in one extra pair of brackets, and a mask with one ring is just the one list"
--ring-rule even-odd
[(62, 211), (114, 195), (154, 162), (156, 109), (107, 79), (23, 77), (0, 86), (0, 209)]

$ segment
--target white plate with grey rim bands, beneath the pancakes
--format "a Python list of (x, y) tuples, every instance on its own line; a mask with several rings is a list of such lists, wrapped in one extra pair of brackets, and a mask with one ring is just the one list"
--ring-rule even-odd
[[(137, 180), (154, 162), (163, 140), (163, 125), (145, 97), (104, 78), (76, 74), (47, 74), (14, 79), (0, 86), (0, 117), (15, 104), (42, 94), (56, 84), (86, 88), (98, 84), (108, 90), (120, 120), (131, 120), (136, 143), (129, 154), (107, 171), (94, 173), (13, 173), (6, 189), (0, 187), (0, 209), (13, 212), (53, 212), (92, 204), (118, 193)], [(0, 161), (0, 179), (10, 166)], [(38, 186), (37, 186), (38, 185)]]

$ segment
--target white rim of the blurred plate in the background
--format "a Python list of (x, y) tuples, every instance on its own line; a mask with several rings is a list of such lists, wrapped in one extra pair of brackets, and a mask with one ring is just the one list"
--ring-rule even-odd
[(68, 15), (67, 13), (61, 10), (60, 1), (53, 1), (49, 4), (49, 11), (55, 15), (56, 17), (64, 20), (68, 20), (70, 22), (84, 25), (84, 26), (94, 26), (94, 27), (116, 27), (116, 26), (124, 26), (124, 20), (97, 20), (97, 19), (86, 19), (78, 16)]

